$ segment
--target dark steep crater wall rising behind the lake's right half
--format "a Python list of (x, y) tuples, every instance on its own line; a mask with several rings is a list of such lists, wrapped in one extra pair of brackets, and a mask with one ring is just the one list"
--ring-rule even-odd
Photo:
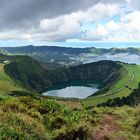
[(69, 68), (69, 80), (99, 80), (105, 84), (116, 81), (122, 66), (113, 61), (99, 61)]

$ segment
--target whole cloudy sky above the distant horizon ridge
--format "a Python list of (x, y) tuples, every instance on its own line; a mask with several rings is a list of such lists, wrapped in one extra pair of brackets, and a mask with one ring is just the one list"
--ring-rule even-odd
[(107, 43), (140, 47), (140, 0), (0, 0), (0, 47)]

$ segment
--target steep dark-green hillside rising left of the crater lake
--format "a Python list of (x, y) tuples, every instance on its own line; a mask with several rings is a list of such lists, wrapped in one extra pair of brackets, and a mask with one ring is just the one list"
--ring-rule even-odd
[(40, 91), (50, 85), (40, 64), (28, 56), (16, 56), (4, 67), (5, 72), (24, 86)]

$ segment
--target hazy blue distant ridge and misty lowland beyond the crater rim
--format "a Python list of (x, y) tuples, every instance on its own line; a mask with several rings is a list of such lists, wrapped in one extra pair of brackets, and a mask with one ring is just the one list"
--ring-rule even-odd
[(63, 65), (77, 65), (96, 62), (99, 60), (113, 60), (140, 64), (139, 48), (68, 48), (57, 46), (23, 46), (5, 47), (4, 54), (28, 55), (41, 62), (59, 63)]

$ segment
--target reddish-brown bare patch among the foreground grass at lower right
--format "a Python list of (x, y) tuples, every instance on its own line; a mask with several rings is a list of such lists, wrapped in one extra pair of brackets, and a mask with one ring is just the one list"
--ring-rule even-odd
[[(110, 134), (117, 134), (122, 128), (116, 123), (117, 117), (105, 114), (99, 122), (99, 130), (96, 132), (95, 140), (110, 140)], [(111, 140), (126, 140), (121, 136), (115, 136)]]

